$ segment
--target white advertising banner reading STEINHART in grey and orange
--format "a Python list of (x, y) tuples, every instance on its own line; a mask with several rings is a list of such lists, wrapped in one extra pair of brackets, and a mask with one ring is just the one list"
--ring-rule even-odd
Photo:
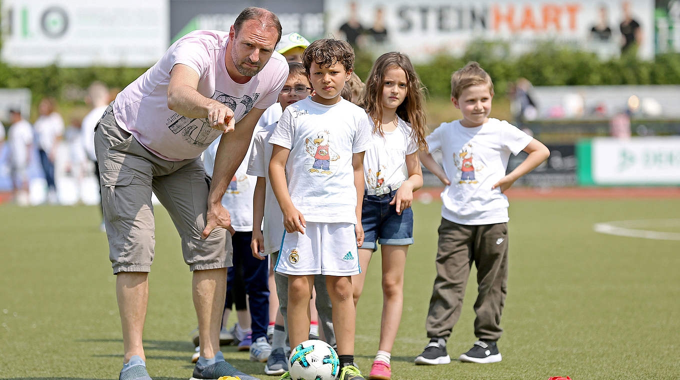
[(326, 0), (328, 33), (415, 60), (462, 54), (483, 40), (507, 41), (516, 53), (555, 41), (602, 56), (616, 56), (637, 41), (636, 54), (652, 58), (653, 12), (653, 0)]

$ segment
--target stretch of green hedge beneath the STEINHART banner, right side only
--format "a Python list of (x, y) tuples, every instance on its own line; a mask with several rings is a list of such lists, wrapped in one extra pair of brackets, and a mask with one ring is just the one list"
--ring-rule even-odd
[[(356, 69), (365, 78), (371, 55), (357, 54)], [(609, 61), (596, 54), (558, 44), (542, 44), (512, 57), (507, 44), (483, 42), (471, 46), (462, 57), (434, 56), (428, 63), (415, 65), (431, 97), (450, 97), (453, 71), (469, 61), (477, 61), (494, 81), (496, 94), (505, 94), (509, 85), (526, 77), (534, 86), (577, 86), (615, 84), (680, 84), (680, 54), (661, 54), (654, 61), (622, 56)]]

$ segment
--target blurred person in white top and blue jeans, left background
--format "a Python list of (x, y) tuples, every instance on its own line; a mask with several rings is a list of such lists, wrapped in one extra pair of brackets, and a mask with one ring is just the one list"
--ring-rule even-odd
[(56, 100), (52, 97), (43, 98), (38, 104), (40, 116), (35, 120), (33, 128), (37, 137), (37, 148), (40, 164), (47, 181), (47, 200), (56, 203), (56, 184), (54, 183), (54, 159), (58, 141), (64, 134), (64, 120), (56, 112)]

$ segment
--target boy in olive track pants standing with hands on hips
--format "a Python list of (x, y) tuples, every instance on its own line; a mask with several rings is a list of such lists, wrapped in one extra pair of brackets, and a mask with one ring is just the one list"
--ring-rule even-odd
[[(429, 152), (420, 160), (446, 185), (441, 193), (437, 278), (426, 328), (430, 343), (415, 364), (447, 364), (446, 341), (462, 308), (472, 264), (477, 267), (475, 301), (477, 342), (458, 359), (493, 363), (502, 359), (500, 315), (508, 276), (508, 201), (503, 194), (522, 175), (549, 156), (549, 150), (509, 122), (489, 118), (494, 85), (476, 62), (456, 71), (451, 99), (462, 119), (442, 123), (426, 138)], [(443, 168), (431, 152), (441, 150)], [(506, 174), (510, 154), (527, 158)]]

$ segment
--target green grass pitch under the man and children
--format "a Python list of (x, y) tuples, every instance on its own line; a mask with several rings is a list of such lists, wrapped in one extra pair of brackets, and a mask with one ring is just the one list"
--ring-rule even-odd
[[(440, 203), (415, 203), (401, 328), (392, 351), (403, 379), (675, 379), (680, 375), (680, 242), (601, 235), (596, 222), (679, 218), (680, 200), (512, 201), (510, 278), (498, 347), (503, 362), (415, 366), (437, 247)], [(120, 320), (95, 207), (0, 207), (0, 379), (118, 379)], [(647, 228), (649, 229), (649, 228)], [(660, 226), (660, 230), (679, 232)], [(156, 207), (156, 259), (145, 330), (156, 380), (188, 379), (196, 326), (179, 237)], [(377, 349), (379, 255), (358, 305), (356, 362)], [(473, 271), (448, 351), (471, 347)], [(222, 347), (262, 379), (263, 364)]]

